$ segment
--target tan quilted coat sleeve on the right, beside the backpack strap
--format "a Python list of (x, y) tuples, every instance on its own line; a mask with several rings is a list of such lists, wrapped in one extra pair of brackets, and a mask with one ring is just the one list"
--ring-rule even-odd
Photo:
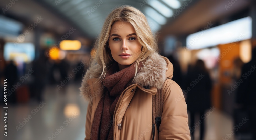
[(180, 86), (173, 80), (167, 79), (163, 94), (159, 139), (190, 140), (187, 104)]

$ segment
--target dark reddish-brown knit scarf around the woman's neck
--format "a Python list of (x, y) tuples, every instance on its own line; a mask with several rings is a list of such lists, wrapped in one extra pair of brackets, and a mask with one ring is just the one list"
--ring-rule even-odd
[[(142, 63), (139, 63), (140, 67)], [(139, 69), (138, 69), (139, 71)], [(113, 139), (113, 115), (117, 101), (130, 84), (135, 75), (135, 62), (127, 68), (119, 71), (118, 63), (114, 62), (106, 72), (103, 85), (106, 86), (106, 94), (101, 98), (94, 116), (91, 129), (92, 140)]]

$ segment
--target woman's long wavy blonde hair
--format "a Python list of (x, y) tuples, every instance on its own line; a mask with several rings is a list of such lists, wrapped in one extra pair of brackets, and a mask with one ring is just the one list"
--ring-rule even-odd
[[(100, 82), (102, 82), (106, 75), (107, 67), (115, 62), (111, 55), (110, 49), (107, 47), (107, 42), (110, 37), (111, 26), (116, 21), (130, 23), (135, 29), (139, 43), (143, 46), (141, 54), (135, 60), (136, 64), (134, 78), (136, 77), (138, 71), (139, 62), (146, 60), (147, 57), (151, 56), (154, 52), (158, 52), (156, 36), (152, 34), (145, 15), (132, 6), (123, 5), (115, 8), (104, 22), (102, 30), (93, 46), (94, 53), (89, 61), (90, 68), (97, 63), (100, 65), (100, 69), (102, 71), (100, 77), (98, 78)], [(134, 78), (131, 83), (133, 83)]]

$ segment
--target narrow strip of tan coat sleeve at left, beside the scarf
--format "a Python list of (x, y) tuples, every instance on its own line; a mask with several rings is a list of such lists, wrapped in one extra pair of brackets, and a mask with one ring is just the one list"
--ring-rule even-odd
[(89, 102), (87, 107), (87, 113), (86, 113), (84, 140), (90, 140), (91, 138), (91, 114), (92, 114), (92, 106), (91, 106), (91, 102)]

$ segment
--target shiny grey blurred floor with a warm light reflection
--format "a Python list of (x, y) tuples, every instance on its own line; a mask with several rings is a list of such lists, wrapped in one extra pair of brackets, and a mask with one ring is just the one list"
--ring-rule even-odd
[[(8, 137), (4, 140), (82, 140), (85, 137), (87, 102), (80, 96), (79, 84), (70, 84), (66, 93), (56, 86), (44, 90), (44, 100), (9, 106)], [(1, 107), (1, 115), (3, 108)], [(198, 116), (199, 117), (199, 116)], [(233, 129), (232, 118), (218, 110), (206, 118), (206, 140), (225, 139)], [(1, 135), (3, 136), (3, 120)], [(199, 127), (195, 129), (195, 139)], [(234, 140), (232, 135), (229, 140)]]

